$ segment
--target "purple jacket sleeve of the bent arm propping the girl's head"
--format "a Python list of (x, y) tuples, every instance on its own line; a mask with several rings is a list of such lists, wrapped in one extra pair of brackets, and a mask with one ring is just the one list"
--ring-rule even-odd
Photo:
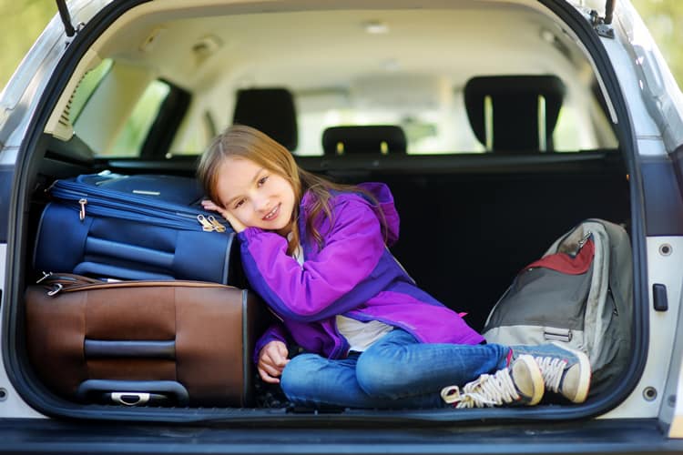
[[(334, 199), (330, 232), (322, 228), (324, 247), (302, 266), (287, 255), (280, 235), (256, 227), (240, 232), (250, 284), (281, 318), (320, 320), (356, 308), (381, 290), (381, 279), (372, 277), (385, 249), (380, 221), (361, 197), (341, 199)], [(373, 283), (359, 292), (368, 279)]]

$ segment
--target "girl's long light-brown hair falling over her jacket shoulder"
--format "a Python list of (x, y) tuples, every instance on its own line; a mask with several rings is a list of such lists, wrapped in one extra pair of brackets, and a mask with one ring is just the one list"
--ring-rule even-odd
[[(303, 197), (306, 191), (311, 192), (313, 196), (310, 214), (305, 220), (306, 232), (315, 239), (319, 248), (323, 247), (322, 235), (313, 225), (313, 220), (322, 212), (332, 222), (330, 208), (331, 190), (363, 193), (366, 197), (374, 200), (372, 195), (367, 194), (367, 192), (362, 191), (358, 187), (332, 183), (325, 178), (318, 177), (301, 169), (287, 148), (281, 146), (280, 143), (258, 129), (250, 126), (233, 125), (214, 138), (207, 151), (200, 158), (197, 168), (197, 177), (199, 177), (204, 191), (214, 203), (219, 205), (222, 204), (217, 193), (218, 170), (223, 161), (228, 157), (244, 157), (249, 159), (260, 167), (278, 174), (290, 183), (294, 190), (296, 201), (290, 220), (292, 234), (288, 247), (288, 253), (290, 254), (301, 242), (301, 233), (297, 226), (297, 220), (299, 219), (301, 197)], [(382, 227), (383, 225), (382, 219)]]

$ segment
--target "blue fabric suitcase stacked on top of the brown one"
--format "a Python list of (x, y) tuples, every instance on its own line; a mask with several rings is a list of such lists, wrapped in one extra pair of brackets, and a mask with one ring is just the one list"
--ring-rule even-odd
[(235, 232), (194, 178), (104, 172), (56, 180), (37, 229), (40, 272), (242, 286)]

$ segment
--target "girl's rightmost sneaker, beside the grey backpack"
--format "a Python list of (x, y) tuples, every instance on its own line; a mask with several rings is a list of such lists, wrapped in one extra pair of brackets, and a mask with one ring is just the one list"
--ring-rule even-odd
[(541, 369), (545, 389), (559, 393), (574, 403), (583, 403), (590, 389), (590, 361), (586, 353), (550, 343), (513, 346), (513, 359), (532, 356)]

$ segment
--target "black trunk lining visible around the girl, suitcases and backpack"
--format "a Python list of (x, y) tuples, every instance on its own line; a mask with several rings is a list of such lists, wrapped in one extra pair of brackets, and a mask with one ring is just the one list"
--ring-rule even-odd
[[(56, 178), (107, 169), (124, 174), (175, 174), (192, 176), (189, 160), (177, 160), (168, 166), (153, 161), (125, 160), (77, 163), (66, 160), (62, 153), (51, 150), (55, 142), (46, 140), (46, 148), (36, 153), (45, 155), (36, 167), (35, 190), (31, 194), (26, 217), (25, 275), (28, 285), (42, 276), (42, 270), (30, 267), (36, 226), (46, 205), (45, 190)], [(401, 215), (401, 237), (392, 253), (416, 280), (449, 308), (466, 313), (465, 320), (481, 331), (495, 302), (511, 284), (515, 274), (525, 265), (540, 258), (559, 236), (586, 218), (598, 217), (628, 227), (629, 187), (627, 173), (618, 150), (576, 154), (513, 154), (501, 156), (447, 155), (385, 157), (358, 155), (353, 157), (299, 157), (299, 164), (311, 172), (342, 183), (381, 181), (392, 190)], [(180, 170), (180, 169), (183, 170)], [(248, 285), (247, 285), (248, 286)], [(44, 389), (34, 368), (25, 358), (22, 332), (23, 311), (17, 313), (16, 348), (22, 369), (41, 399), (50, 403), (47, 409), (69, 409), (94, 416), (137, 420), (195, 420), (244, 417), (232, 408), (168, 410), (143, 407), (121, 409), (120, 406), (82, 406), (68, 397), (59, 397)], [(268, 420), (273, 408), (277, 415), (317, 415), (312, 410), (288, 407), (277, 389), (267, 387), (254, 378), (252, 417)], [(589, 399), (599, 400), (600, 397)], [(536, 412), (561, 416), (561, 407), (539, 406)], [(97, 409), (97, 410), (96, 410)], [(479, 412), (486, 410), (480, 410)], [(515, 410), (503, 410), (502, 414)], [(237, 414), (236, 414), (237, 412)], [(334, 410), (331, 415), (357, 418), (386, 418), (388, 411)], [(501, 410), (489, 410), (501, 412)], [(324, 413), (324, 412), (323, 412)], [(392, 411), (391, 419), (405, 418), (411, 410)], [(429, 415), (429, 414), (428, 414)], [(269, 417), (270, 416), (270, 417)], [(442, 410), (433, 410), (442, 416)], [(461, 414), (457, 419), (466, 419)], [(281, 418), (281, 415), (280, 415)]]

